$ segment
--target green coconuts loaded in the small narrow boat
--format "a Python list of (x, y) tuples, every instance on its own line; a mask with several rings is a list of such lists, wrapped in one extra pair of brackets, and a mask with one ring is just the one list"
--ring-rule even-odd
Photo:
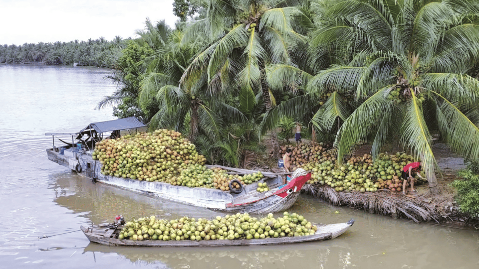
[(180, 219), (158, 219), (156, 216), (128, 221), (118, 239), (129, 240), (236, 240), (264, 239), (313, 235), (317, 227), (303, 216), (284, 212), (282, 217), (255, 218), (247, 213), (217, 216), (213, 219), (182, 217)]

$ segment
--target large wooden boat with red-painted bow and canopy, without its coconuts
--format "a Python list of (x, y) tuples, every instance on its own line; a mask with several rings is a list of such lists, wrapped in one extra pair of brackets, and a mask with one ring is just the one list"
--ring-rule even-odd
[[(103, 175), (101, 162), (92, 159), (95, 137), (101, 138), (105, 133), (119, 134), (145, 128), (135, 117), (91, 123), (80, 132), (47, 133), (53, 139), (53, 147), (46, 150), (48, 159), (75, 170), (78, 174), (91, 179), (138, 193), (158, 196), (164, 199), (177, 201), (184, 204), (209, 208), (226, 212), (271, 213), (284, 211), (291, 207), (299, 196), (299, 192), (311, 178), (310, 173), (297, 172), (287, 184), (278, 173), (262, 172), (264, 178), (260, 181), (266, 183), (269, 191), (258, 192), (258, 182), (243, 185), (240, 193), (222, 191), (219, 189), (202, 187), (175, 186), (163, 182), (148, 182), (136, 179)], [(98, 135), (98, 136), (97, 136)], [(58, 138), (58, 136), (71, 136), (71, 143)], [(87, 138), (83, 139), (83, 137)], [(66, 145), (55, 146), (55, 137)], [(80, 142), (81, 141), (81, 142)], [(211, 167), (211, 166), (210, 166)], [(219, 166), (235, 174), (248, 174), (257, 171)]]

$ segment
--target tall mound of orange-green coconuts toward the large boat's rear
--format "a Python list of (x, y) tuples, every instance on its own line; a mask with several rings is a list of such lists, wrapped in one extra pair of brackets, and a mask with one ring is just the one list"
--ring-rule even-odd
[(179, 132), (156, 130), (98, 142), (93, 159), (103, 164), (105, 175), (155, 181), (171, 178), (188, 164), (205, 164), (195, 144)]

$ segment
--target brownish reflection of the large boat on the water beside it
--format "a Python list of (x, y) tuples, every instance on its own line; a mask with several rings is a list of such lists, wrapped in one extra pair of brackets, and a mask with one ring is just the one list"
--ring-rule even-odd
[(124, 190), (91, 180), (71, 172), (68, 178), (59, 178), (50, 186), (55, 193), (53, 201), (74, 213), (84, 214), (94, 224), (113, 222), (116, 215), (133, 219), (156, 215), (162, 218), (195, 218), (217, 212), (185, 206), (163, 199)]

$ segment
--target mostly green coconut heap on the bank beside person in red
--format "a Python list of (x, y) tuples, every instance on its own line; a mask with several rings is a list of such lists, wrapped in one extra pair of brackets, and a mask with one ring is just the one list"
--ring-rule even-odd
[[(334, 150), (327, 150), (324, 155), (334, 153)], [(413, 156), (404, 152), (394, 155), (381, 153), (374, 162), (371, 155), (364, 154), (361, 157), (352, 156), (340, 166), (328, 159), (307, 163), (303, 168), (313, 172), (309, 184), (327, 184), (336, 191), (374, 192), (382, 188), (401, 191), (401, 171), (405, 165), (414, 161)], [(422, 180), (418, 181), (418, 184), (421, 183)]]

